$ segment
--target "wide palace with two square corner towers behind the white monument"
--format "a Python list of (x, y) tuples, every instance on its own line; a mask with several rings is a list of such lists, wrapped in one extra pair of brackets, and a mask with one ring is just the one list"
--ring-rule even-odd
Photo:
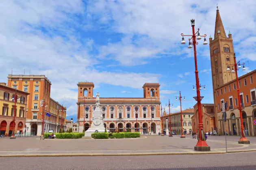
[[(93, 83), (78, 84), (78, 131), (83, 132), (92, 123), (96, 100)], [(143, 98), (100, 98), (105, 127), (111, 132), (131, 129), (132, 132), (161, 132), (159, 83), (145, 83)], [(152, 109), (151, 109), (152, 108)], [(137, 119), (136, 119), (137, 116)]]

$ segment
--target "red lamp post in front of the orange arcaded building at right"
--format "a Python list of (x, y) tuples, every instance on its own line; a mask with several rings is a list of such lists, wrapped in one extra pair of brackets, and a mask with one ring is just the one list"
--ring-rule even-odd
[[(238, 66), (237, 66), (238, 64)], [(231, 72), (236, 72), (236, 86), (237, 86), (237, 98), (238, 98), (238, 110), (240, 113), (240, 121), (241, 121), (241, 138), (238, 141), (239, 144), (250, 144), (250, 141), (246, 138), (245, 136), (245, 128), (243, 126), (243, 115), (242, 115), (242, 109), (243, 109), (243, 105), (241, 104), (241, 99), (240, 99), (240, 89), (239, 89), (239, 84), (238, 84), (238, 76), (237, 76), (237, 70), (239, 70), (239, 68), (241, 68), (241, 65), (243, 65), (243, 69), (245, 70), (245, 63), (240, 64), (240, 61), (238, 61), (236, 63), (236, 53), (234, 53), (234, 64), (227, 64), (228, 68), (227, 70), (230, 70), (230, 66), (232, 67), (232, 71)]]

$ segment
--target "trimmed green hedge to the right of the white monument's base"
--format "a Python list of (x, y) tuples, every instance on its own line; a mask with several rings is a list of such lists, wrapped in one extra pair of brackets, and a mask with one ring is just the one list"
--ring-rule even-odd
[(93, 133), (91, 137), (94, 139), (108, 139), (108, 138), (139, 138), (141, 136), (140, 132), (120, 132), (120, 133)]

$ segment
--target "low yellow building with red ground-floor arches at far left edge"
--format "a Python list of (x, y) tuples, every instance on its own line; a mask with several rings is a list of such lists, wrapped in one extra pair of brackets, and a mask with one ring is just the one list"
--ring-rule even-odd
[[(15, 93), (17, 95), (15, 109)], [(6, 83), (0, 83), (0, 135), (11, 136), (13, 133), (23, 134), (26, 119), (28, 93), (7, 87)], [(13, 116), (15, 111), (15, 121)]]

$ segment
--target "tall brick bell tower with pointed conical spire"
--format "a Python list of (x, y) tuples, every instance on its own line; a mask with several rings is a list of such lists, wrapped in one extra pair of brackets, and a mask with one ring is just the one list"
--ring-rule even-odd
[[(214, 40), (210, 36), (210, 63), (212, 70), (212, 79), (213, 79), (213, 97), (214, 97), (214, 108), (215, 108), (215, 123), (216, 127), (219, 126), (218, 114), (217, 114), (217, 92), (216, 88), (219, 86), (228, 83), (235, 79), (235, 73), (227, 71), (227, 63), (234, 63), (234, 46), (232, 40), (232, 34), (228, 33), (228, 38), (226, 36), (221, 17), (219, 14), (219, 9), (217, 6), (216, 21), (215, 21), (215, 32)], [(228, 89), (227, 89), (228, 90)]]

